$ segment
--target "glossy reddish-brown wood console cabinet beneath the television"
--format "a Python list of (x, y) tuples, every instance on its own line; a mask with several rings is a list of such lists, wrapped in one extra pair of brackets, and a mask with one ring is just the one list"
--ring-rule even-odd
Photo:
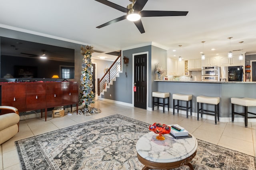
[(47, 108), (76, 104), (78, 113), (77, 82), (2, 82), (2, 106), (13, 106), (18, 111), (45, 110)]

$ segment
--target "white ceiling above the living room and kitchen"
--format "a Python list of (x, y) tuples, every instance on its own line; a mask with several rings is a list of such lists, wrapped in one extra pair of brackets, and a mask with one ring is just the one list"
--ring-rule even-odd
[[(131, 3), (109, 1), (125, 8)], [(143, 10), (188, 14), (143, 17), (146, 32), (141, 34), (128, 20), (96, 28), (125, 13), (95, 0), (4, 0), (0, 6), (0, 27), (92, 45), (104, 53), (153, 42), (168, 49), (168, 57), (177, 59), (180, 55), (183, 59), (200, 58), (202, 51), (206, 57), (226, 56), (230, 48), (238, 54), (242, 48), (243, 53), (250, 55), (256, 54), (255, 7), (255, 0), (148, 0)], [(94, 57), (99, 55), (102, 54)]]

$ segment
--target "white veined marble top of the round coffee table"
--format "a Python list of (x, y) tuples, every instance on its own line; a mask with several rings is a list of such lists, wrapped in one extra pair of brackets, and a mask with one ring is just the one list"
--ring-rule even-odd
[(191, 156), (197, 148), (195, 137), (174, 139), (165, 134), (164, 141), (156, 139), (158, 134), (149, 132), (143, 135), (136, 144), (137, 153), (144, 159), (158, 163), (177, 162)]

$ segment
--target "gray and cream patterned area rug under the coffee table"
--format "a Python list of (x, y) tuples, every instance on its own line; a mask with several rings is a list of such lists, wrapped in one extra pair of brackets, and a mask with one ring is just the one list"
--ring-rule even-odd
[[(22, 139), (15, 145), (23, 170), (141, 170), (144, 165), (136, 156), (136, 142), (149, 132), (148, 126), (116, 114)], [(191, 164), (195, 170), (255, 169), (253, 156), (200, 140)]]

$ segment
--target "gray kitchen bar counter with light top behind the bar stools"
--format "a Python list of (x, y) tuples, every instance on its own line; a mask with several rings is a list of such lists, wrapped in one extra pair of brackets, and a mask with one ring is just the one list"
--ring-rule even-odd
[[(196, 97), (214, 96), (220, 97), (220, 121), (231, 121), (231, 103), (230, 98), (256, 98), (256, 82), (213, 82), (213, 81), (172, 81), (172, 80), (154, 80), (157, 90), (160, 92), (170, 92), (170, 108), (173, 108), (172, 94), (192, 94), (192, 112), (193, 116), (197, 115)], [(182, 105), (185, 106), (184, 101)], [(184, 103), (183, 103), (184, 102)], [(209, 105), (205, 109), (214, 109), (214, 106)], [(177, 110), (175, 110), (177, 111)], [(248, 111), (256, 113), (256, 107), (248, 107)], [(242, 107), (237, 110), (242, 112)], [(183, 112), (182, 112), (183, 113)], [(177, 114), (177, 113), (175, 113)], [(204, 115), (207, 119), (214, 120), (214, 116)], [(235, 115), (234, 121), (244, 121), (240, 115)], [(255, 119), (248, 119), (255, 121)]]

